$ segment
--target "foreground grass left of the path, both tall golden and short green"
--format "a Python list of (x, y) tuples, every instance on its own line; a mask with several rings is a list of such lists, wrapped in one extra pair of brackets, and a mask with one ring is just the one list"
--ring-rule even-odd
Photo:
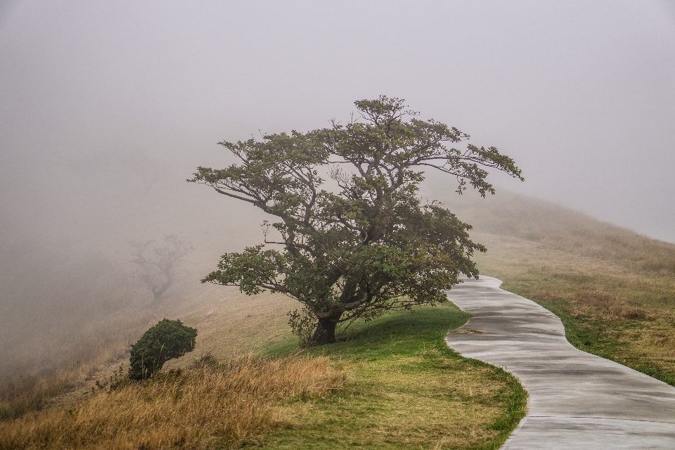
[(267, 356), (186, 359), (2, 421), (0, 449), (496, 449), (526, 394), (501, 368), (446, 347), (467, 318), (447, 304), (356, 323), (309, 351), (286, 332)]

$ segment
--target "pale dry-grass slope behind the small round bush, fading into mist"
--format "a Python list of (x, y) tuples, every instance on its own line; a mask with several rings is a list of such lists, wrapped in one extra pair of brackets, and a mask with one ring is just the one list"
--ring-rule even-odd
[(198, 328), (198, 351), (170, 361), (167, 369), (186, 366), (198, 354), (226, 359), (290, 334), (288, 297), (248, 297), (236, 288), (195, 284), (180, 302), (132, 305), (103, 321), (82, 323), (76, 332), (49, 345), (51, 364), (41, 366), (39, 359), (27, 355), (26, 364), (5, 368), (0, 373), (0, 420), (82, 397), (96, 379), (108, 378), (127, 361), (129, 345), (164, 317), (181, 318)]

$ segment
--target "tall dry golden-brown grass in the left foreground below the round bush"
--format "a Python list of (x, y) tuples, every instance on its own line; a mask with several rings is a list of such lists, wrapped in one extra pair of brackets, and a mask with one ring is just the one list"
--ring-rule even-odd
[(247, 355), (220, 365), (203, 359), (183, 371), (95, 392), (70, 407), (2, 422), (0, 448), (233, 447), (274, 424), (276, 401), (318, 397), (344, 380), (345, 373), (323, 356), (271, 360)]

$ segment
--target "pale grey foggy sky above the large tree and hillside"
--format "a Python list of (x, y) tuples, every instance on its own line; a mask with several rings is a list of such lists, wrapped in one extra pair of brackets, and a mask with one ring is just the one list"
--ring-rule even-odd
[(498, 186), (675, 242), (666, 1), (4, 1), (0, 226), (57, 220), (74, 161), (143, 155), (185, 184), (222, 139), (380, 94), (514, 158), (525, 183)]

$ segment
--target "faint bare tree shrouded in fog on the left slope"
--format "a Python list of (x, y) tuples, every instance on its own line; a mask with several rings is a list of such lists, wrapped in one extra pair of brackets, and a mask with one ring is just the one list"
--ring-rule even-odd
[(194, 248), (175, 234), (165, 236), (166, 245), (162, 247), (153, 245), (154, 242), (154, 240), (139, 240), (129, 244), (134, 248), (131, 252), (134, 259), (131, 259), (131, 262), (139, 265), (137, 272), (139, 278), (153, 291), (155, 301), (158, 301), (174, 283), (174, 269)]

